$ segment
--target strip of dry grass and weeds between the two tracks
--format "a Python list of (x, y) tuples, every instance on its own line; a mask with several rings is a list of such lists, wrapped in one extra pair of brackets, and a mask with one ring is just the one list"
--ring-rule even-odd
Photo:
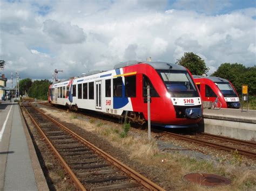
[[(43, 109), (43, 108), (42, 108)], [(65, 112), (53, 112), (43, 109), (53, 117), (64, 119), (67, 123), (72, 123), (80, 128), (100, 135), (114, 147), (120, 148), (131, 162), (127, 165), (146, 175), (165, 189), (172, 190), (256, 190), (255, 164), (242, 162), (241, 156), (237, 152), (227, 155), (217, 155), (217, 160), (198, 160), (188, 155), (162, 152), (158, 148), (155, 139), (147, 140), (147, 133), (136, 131), (133, 128), (124, 130), (124, 126), (104, 122), (78, 115), (77, 118), (69, 117), (72, 114)], [(66, 115), (66, 116), (65, 116)], [(65, 116), (65, 117), (64, 117)], [(129, 131), (130, 129), (130, 131)], [(121, 136), (126, 131), (126, 136)], [(137, 162), (143, 167), (134, 165)], [(187, 183), (183, 176), (188, 173), (214, 173), (225, 176), (232, 180), (230, 186), (219, 186), (216, 188), (206, 188), (200, 185)]]

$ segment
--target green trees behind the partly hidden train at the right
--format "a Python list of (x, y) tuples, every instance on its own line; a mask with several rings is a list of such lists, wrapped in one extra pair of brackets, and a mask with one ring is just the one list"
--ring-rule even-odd
[(245, 67), (241, 63), (222, 63), (211, 75), (229, 80), (241, 95), (243, 84), (248, 85), (250, 95), (256, 95), (256, 66)]

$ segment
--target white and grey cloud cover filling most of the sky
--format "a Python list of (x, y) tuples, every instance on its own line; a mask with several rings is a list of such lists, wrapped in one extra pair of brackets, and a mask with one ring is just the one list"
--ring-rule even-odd
[[(229, 6), (211, 2), (218, 10)], [(255, 8), (210, 15), (214, 9), (205, 14), (194, 11), (197, 7), (178, 10), (177, 3), (165, 10), (166, 5), (167, 1), (137, 0), (2, 1), (4, 72), (51, 79), (57, 68), (64, 69), (59, 77), (68, 78), (149, 56), (174, 63), (184, 52), (200, 55), (210, 73), (224, 62), (255, 65)]]

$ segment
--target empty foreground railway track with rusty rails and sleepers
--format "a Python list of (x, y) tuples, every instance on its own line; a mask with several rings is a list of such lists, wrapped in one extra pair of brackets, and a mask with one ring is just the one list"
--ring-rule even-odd
[(79, 190), (164, 190), (37, 108), (23, 107)]

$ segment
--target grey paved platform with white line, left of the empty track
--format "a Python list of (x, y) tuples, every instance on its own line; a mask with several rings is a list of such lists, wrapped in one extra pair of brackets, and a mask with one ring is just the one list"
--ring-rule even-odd
[(0, 103), (0, 190), (49, 190), (18, 103)]

